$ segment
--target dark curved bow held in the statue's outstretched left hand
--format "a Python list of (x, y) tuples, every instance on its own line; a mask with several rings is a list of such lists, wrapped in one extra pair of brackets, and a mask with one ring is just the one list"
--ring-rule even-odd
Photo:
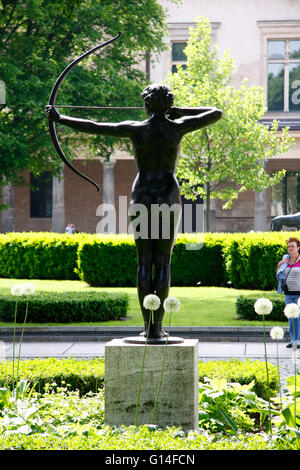
[[(78, 64), (78, 62), (80, 62), (84, 57), (87, 57), (88, 55), (92, 54), (93, 52), (96, 52), (98, 49), (102, 49), (103, 47), (107, 46), (108, 44), (110, 44), (111, 42), (115, 41), (116, 39), (118, 39), (119, 37), (121, 36), (121, 33), (118, 33), (117, 36), (109, 39), (108, 41), (105, 41), (103, 42), (102, 44), (99, 44), (98, 46), (95, 46), (93, 47), (92, 49), (90, 49), (89, 51), (87, 52), (84, 52), (83, 54), (81, 54), (79, 57), (77, 57), (77, 59), (73, 60), (73, 62), (71, 62), (66, 68), (65, 70), (60, 74), (60, 76), (58, 77), (58, 79), (56, 80), (53, 88), (52, 88), (52, 91), (50, 93), (50, 97), (49, 97), (49, 102), (48, 104), (51, 105), (51, 106), (55, 106), (55, 102), (56, 102), (56, 97), (57, 97), (57, 93), (58, 93), (58, 90), (59, 90), (59, 87), (60, 85), (62, 84), (63, 80), (65, 79), (65, 77), (68, 75), (68, 73), (72, 70), (72, 68)], [(61, 106), (62, 107), (62, 106)], [(104, 107), (102, 107), (104, 108)], [(85, 176), (84, 174), (82, 174), (79, 170), (77, 170), (73, 165), (72, 163), (67, 159), (67, 157), (65, 156), (60, 144), (59, 144), (59, 141), (58, 141), (58, 137), (57, 137), (57, 133), (56, 133), (56, 127), (55, 127), (55, 122), (52, 120), (52, 119), (49, 119), (49, 130), (50, 130), (50, 135), (51, 135), (51, 138), (52, 138), (52, 141), (53, 141), (53, 144), (54, 144), (54, 147), (55, 147), (55, 150), (57, 151), (58, 155), (60, 156), (60, 158), (62, 159), (62, 161), (72, 170), (74, 171), (77, 175), (81, 176), (82, 178), (84, 178), (85, 180), (89, 181), (91, 184), (93, 184), (96, 188), (97, 188), (97, 191), (100, 190), (99, 186), (97, 183), (95, 183), (93, 180), (91, 180), (90, 178), (88, 178), (88, 176)]]

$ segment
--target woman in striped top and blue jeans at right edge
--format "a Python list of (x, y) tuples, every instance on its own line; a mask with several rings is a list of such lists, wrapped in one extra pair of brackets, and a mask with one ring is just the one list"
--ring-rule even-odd
[[(285, 304), (298, 304), (300, 299), (300, 240), (298, 238), (289, 238), (287, 240), (288, 254), (284, 255), (277, 265), (277, 278), (280, 272), (283, 273), (283, 292)], [(300, 317), (289, 318), (289, 332), (291, 341), (287, 348), (291, 348), (293, 342), (300, 348)]]

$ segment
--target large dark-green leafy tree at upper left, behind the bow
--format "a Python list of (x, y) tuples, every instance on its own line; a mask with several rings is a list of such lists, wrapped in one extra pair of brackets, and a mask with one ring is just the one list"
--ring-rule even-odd
[[(25, 170), (38, 174), (61, 166), (44, 106), (73, 58), (121, 31), (117, 42), (72, 70), (58, 104), (141, 106), (146, 78), (138, 64), (146, 51), (155, 57), (165, 47), (165, 27), (158, 0), (0, 0), (0, 79), (6, 85), (6, 106), (0, 104), (0, 184), (19, 184)], [(82, 111), (80, 116), (122, 120), (131, 117), (128, 113)], [(70, 130), (62, 135), (68, 156), (78, 143), (74, 136)], [(86, 143), (92, 155), (109, 158), (117, 141), (86, 137)]]

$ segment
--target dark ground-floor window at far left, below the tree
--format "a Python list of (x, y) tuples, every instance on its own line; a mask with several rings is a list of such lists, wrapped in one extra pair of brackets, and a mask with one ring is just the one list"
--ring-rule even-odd
[(52, 217), (52, 175), (30, 173), (30, 217)]

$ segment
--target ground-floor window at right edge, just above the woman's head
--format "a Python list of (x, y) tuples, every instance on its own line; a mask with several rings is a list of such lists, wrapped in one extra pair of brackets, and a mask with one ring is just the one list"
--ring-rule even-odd
[(284, 179), (272, 186), (271, 216), (300, 212), (300, 172), (287, 171)]

